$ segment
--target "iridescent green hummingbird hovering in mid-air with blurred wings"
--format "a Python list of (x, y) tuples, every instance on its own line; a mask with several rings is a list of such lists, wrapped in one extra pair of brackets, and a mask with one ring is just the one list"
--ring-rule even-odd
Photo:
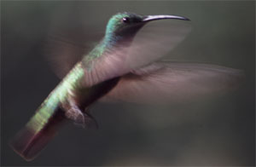
[(89, 107), (97, 100), (187, 100), (230, 89), (241, 76), (238, 70), (224, 66), (156, 61), (180, 43), (189, 28), (167, 28), (162, 36), (153, 29), (137, 37), (154, 20), (189, 19), (127, 12), (113, 15), (102, 41), (73, 66), (11, 141), (15, 152), (32, 160), (67, 119), (88, 126), (94, 122)]

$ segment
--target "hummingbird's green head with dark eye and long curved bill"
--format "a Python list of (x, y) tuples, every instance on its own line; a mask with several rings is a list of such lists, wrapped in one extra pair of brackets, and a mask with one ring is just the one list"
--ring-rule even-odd
[(136, 33), (149, 21), (152, 20), (164, 20), (164, 19), (176, 19), (176, 20), (189, 20), (182, 16), (176, 15), (140, 15), (129, 12), (114, 14), (108, 21), (106, 38), (112, 42), (131, 41)]

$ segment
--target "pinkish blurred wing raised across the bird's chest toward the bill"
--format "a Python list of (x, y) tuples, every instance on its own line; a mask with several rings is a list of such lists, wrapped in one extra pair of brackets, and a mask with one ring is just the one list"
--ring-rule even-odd
[[(132, 42), (129, 39), (119, 47), (108, 49), (95, 60), (87, 60), (92, 78), (87, 80), (100, 83), (119, 77), (142, 66), (159, 60), (189, 33), (189, 21), (155, 20), (146, 24)], [(85, 65), (88, 66), (88, 65)]]

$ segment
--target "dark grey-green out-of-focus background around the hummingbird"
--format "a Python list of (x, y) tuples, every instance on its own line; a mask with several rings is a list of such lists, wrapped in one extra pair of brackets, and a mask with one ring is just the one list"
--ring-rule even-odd
[[(1, 165), (254, 166), (254, 10), (253, 1), (2, 1)], [(96, 103), (91, 110), (99, 130), (67, 124), (38, 158), (26, 162), (8, 141), (60, 82), (42, 43), (57, 33), (92, 43), (122, 11), (188, 17), (193, 30), (170, 58), (241, 69), (245, 82), (229, 94), (186, 105)]]

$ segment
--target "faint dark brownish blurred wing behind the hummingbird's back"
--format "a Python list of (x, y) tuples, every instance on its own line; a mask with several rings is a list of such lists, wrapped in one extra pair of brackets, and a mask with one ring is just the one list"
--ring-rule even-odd
[(58, 78), (64, 78), (73, 66), (94, 48), (102, 33), (80, 33), (79, 37), (77, 36), (74, 32), (63, 32), (50, 35), (44, 41), (43, 55)]

